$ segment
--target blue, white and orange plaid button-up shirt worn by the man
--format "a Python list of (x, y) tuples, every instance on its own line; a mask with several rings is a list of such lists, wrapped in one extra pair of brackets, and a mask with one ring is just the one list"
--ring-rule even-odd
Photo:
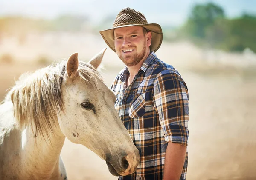
[[(168, 142), (188, 144), (189, 104), (186, 83), (152, 52), (126, 88), (128, 69), (111, 89), (115, 108), (140, 152), (137, 170), (119, 180), (162, 180)], [(175, 162), (174, 162), (175, 163)], [(180, 180), (186, 179), (187, 153)]]

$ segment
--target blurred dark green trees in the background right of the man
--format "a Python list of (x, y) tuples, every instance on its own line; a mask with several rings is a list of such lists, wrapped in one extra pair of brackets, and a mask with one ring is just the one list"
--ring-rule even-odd
[(243, 51), (249, 47), (256, 52), (256, 16), (244, 14), (227, 19), (224, 10), (213, 3), (198, 4), (192, 8), (186, 24), (181, 28), (183, 37), (200, 46)]

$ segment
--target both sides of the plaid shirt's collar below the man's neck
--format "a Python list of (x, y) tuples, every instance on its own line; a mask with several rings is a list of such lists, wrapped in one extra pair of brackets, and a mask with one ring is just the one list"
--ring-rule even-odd
[[(157, 55), (154, 53), (154, 51), (152, 51), (149, 56), (145, 59), (143, 65), (140, 67), (140, 70), (142, 70), (143, 72), (145, 72), (148, 67), (152, 64), (153, 60), (157, 57)], [(127, 66), (125, 66), (124, 69), (122, 69), (122, 71), (120, 71), (119, 73), (119, 77), (123, 82), (126, 82), (126, 77), (128, 74), (128, 68)]]

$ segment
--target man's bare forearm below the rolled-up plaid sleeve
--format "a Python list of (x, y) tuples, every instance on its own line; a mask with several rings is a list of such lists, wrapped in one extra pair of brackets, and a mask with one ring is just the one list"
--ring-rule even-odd
[(186, 157), (186, 146), (168, 143), (165, 155), (163, 180), (179, 180)]

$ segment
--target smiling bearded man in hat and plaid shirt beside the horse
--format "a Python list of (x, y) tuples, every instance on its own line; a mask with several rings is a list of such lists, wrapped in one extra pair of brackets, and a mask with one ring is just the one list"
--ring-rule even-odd
[(185, 180), (189, 131), (188, 90), (180, 74), (157, 58), (163, 34), (131, 8), (100, 31), (125, 63), (111, 86), (115, 107), (140, 151), (136, 172), (120, 180)]

